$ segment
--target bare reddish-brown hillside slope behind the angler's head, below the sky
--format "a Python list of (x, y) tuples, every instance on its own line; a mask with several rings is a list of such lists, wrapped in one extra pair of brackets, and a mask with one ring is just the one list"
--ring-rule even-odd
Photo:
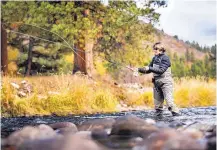
[(162, 43), (164, 43), (166, 49), (169, 50), (171, 53), (176, 52), (177, 55), (184, 56), (188, 49), (189, 53), (193, 52), (195, 58), (200, 60), (202, 60), (206, 55), (206, 53), (198, 51), (197, 49), (186, 44), (184, 41), (178, 40), (173, 36), (163, 33), (158, 29), (156, 29), (155, 33), (156, 33), (154, 37), (155, 41), (161, 41)]

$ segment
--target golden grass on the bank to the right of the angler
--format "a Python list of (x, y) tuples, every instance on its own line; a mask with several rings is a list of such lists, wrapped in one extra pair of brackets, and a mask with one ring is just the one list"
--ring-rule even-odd
[(201, 77), (182, 78), (176, 81), (174, 97), (180, 107), (215, 106), (216, 81), (206, 82)]

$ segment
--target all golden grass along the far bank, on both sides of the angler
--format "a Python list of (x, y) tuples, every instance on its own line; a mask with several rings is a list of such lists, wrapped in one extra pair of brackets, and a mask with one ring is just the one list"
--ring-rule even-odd
[[(16, 96), (11, 82), (27, 80), (33, 93), (26, 98)], [(175, 103), (179, 107), (216, 105), (216, 81), (202, 78), (175, 80)], [(153, 93), (126, 91), (113, 82), (90, 80), (81, 75), (38, 77), (3, 77), (1, 89), (2, 116), (67, 115), (116, 112), (117, 104), (153, 107)]]

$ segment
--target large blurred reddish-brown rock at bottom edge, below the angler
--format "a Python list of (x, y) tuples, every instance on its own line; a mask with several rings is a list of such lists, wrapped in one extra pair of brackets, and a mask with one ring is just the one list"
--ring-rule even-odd
[(175, 129), (162, 129), (133, 150), (205, 150), (205, 144)]

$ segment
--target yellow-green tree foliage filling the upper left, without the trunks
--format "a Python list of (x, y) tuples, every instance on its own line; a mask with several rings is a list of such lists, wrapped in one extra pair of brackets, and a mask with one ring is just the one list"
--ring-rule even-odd
[[(149, 54), (148, 48), (142, 47), (142, 42), (152, 40), (153, 26), (142, 23), (138, 18), (144, 17), (152, 24), (158, 22), (159, 14), (150, 7), (152, 4), (158, 7), (165, 5), (164, 2), (158, 1), (141, 4), (143, 5), (141, 8), (137, 7), (135, 1), (111, 1), (107, 7), (99, 1), (8, 1), (2, 5), (2, 20), (9, 29), (57, 42), (48, 44), (43, 40), (34, 39), (33, 66), (37, 72), (41, 72), (42, 66), (48, 71), (59, 71), (59, 68), (64, 67), (62, 64), (64, 53), (72, 50), (60, 47), (58, 43), (67, 46), (69, 44), (72, 47), (79, 44), (83, 47), (85, 39), (88, 38), (97, 41), (94, 50), (105, 53), (105, 58), (126, 64), (142, 65), (148, 62), (144, 58)], [(12, 33), (9, 36), (10, 42), (15, 47), (20, 47), (21, 42), (28, 39)], [(26, 65), (28, 52), (28, 45), (22, 47), (23, 51), (17, 60), (20, 68)], [(64, 68), (71, 69), (69, 65)]]

